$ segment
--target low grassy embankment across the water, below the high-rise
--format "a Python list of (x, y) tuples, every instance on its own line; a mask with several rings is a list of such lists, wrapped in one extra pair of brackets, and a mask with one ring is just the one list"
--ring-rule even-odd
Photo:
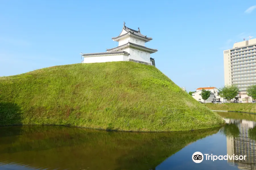
[(256, 113), (255, 103), (224, 103), (224, 104), (205, 104), (209, 109), (216, 111), (239, 111)]

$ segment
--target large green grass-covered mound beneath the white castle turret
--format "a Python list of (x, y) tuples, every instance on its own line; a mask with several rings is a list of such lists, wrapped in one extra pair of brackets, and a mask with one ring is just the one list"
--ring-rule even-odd
[(186, 131), (219, 127), (223, 120), (156, 67), (123, 61), (0, 77), (0, 125), (14, 124)]

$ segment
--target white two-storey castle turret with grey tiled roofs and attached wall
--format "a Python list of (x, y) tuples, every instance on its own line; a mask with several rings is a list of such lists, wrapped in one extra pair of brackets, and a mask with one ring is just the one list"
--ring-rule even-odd
[(124, 22), (121, 33), (112, 40), (118, 42), (117, 47), (107, 49), (107, 52), (82, 54), (84, 57), (82, 63), (134, 61), (155, 66), (155, 61), (150, 58), (150, 54), (157, 52), (157, 49), (145, 47), (145, 43), (152, 38), (142, 35), (139, 28), (138, 31), (128, 28)]

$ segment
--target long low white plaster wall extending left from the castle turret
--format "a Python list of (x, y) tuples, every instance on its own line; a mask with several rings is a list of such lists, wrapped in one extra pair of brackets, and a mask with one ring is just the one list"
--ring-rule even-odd
[(84, 57), (83, 63), (104, 63), (110, 61), (128, 61), (127, 55), (109, 55), (109, 56), (95, 56), (95, 57)]

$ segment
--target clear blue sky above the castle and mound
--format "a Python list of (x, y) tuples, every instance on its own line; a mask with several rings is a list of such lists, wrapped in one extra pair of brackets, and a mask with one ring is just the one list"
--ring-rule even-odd
[[(1, 1), (0, 76), (80, 63), (123, 27), (152, 37), (156, 67), (187, 91), (224, 85), (223, 50), (255, 36), (256, 2)], [(117, 45), (117, 44), (116, 44)]]

